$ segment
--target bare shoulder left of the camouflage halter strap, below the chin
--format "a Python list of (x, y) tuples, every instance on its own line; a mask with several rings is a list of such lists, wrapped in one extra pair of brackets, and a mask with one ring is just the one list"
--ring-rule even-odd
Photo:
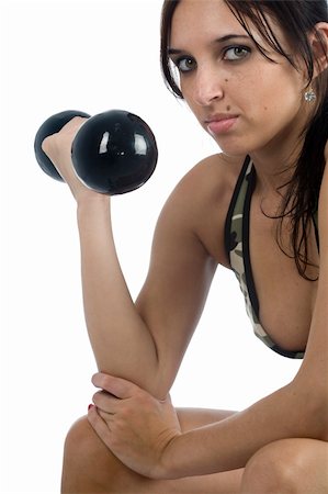
[(178, 183), (163, 214), (193, 232), (218, 263), (227, 266), (224, 225), (245, 157), (216, 154), (196, 164)]

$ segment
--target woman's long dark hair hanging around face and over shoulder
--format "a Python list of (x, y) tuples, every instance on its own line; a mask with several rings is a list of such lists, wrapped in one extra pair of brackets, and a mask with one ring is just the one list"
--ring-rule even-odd
[[(166, 0), (163, 2), (160, 60), (162, 75), (168, 88), (176, 97), (183, 99), (168, 56), (171, 21), (179, 1)], [(292, 222), (291, 245), (297, 270), (303, 278), (310, 279), (306, 274), (307, 266), (312, 265), (308, 259), (308, 233), (314, 216), (317, 214), (319, 190), (325, 169), (325, 146), (328, 139), (328, 70), (321, 71), (313, 80), (316, 60), (308, 41), (308, 33), (315, 33), (323, 54), (326, 54), (328, 60), (328, 47), (320, 33), (315, 29), (317, 23), (328, 22), (327, 0), (224, 1), (265, 58), (270, 59), (267, 50), (253, 38), (250, 32), (250, 24), (256, 27), (271, 48), (285, 57), (297, 70), (299, 64), (282, 48), (271, 29), (268, 15), (273, 16), (289, 40), (293, 53), (304, 60), (308, 86), (312, 86), (316, 92), (315, 111), (306, 128), (303, 130), (304, 145), (295, 164), (292, 179), (284, 184), (287, 186), (286, 192), (278, 216), (280, 218), (278, 227), (279, 245), (281, 246), (280, 238), (283, 218), (289, 216)]]

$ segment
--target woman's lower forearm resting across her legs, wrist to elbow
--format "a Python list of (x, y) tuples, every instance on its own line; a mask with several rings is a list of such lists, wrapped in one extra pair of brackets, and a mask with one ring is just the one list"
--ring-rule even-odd
[(292, 383), (217, 424), (177, 436), (163, 456), (163, 476), (242, 468), (259, 449), (279, 439), (325, 439), (324, 415), (321, 404)]

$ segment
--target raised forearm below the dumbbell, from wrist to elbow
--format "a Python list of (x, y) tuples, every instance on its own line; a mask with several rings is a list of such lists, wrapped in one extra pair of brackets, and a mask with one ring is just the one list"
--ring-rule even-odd
[(156, 395), (155, 343), (121, 271), (109, 198), (100, 195), (94, 201), (80, 202), (78, 226), (84, 314), (98, 368)]

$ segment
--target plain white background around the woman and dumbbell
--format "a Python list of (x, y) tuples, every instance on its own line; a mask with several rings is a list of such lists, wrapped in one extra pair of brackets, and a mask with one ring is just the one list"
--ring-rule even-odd
[[(97, 370), (83, 321), (75, 203), (36, 165), (38, 126), (67, 109), (116, 108), (152, 128), (155, 175), (113, 200), (133, 296), (166, 198), (217, 150), (162, 82), (160, 8), (161, 0), (1, 2), (1, 493), (59, 492), (64, 438), (87, 411)], [(240, 409), (291, 380), (298, 366), (252, 335), (237, 281), (219, 269), (172, 398)]]

